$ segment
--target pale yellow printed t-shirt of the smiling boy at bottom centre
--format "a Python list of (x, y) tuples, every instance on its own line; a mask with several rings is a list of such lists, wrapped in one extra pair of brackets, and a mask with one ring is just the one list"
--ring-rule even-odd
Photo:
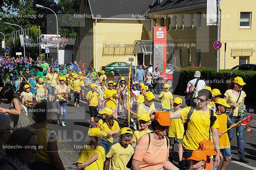
[(110, 147), (107, 158), (112, 158), (110, 161), (110, 170), (130, 170), (126, 167), (132, 154), (133, 147), (128, 145), (126, 148), (122, 147), (120, 143), (116, 143)]

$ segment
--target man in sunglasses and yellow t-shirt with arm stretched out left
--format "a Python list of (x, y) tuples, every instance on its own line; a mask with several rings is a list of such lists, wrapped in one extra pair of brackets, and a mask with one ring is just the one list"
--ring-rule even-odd
[[(198, 92), (197, 106), (196, 107), (185, 107), (184, 109), (178, 110), (177, 112), (170, 113), (171, 119), (181, 118), (187, 120), (187, 129), (182, 141), (182, 146), (185, 152), (185, 159), (187, 160), (192, 151), (196, 150), (199, 146), (200, 141), (208, 140), (210, 138), (209, 132), (212, 132), (213, 142), (216, 148), (217, 156), (215, 158), (215, 168), (220, 163), (220, 150), (219, 150), (219, 136), (218, 119), (212, 123), (211, 111), (207, 105), (211, 101), (211, 91), (202, 89)], [(188, 114), (190, 116), (188, 120)], [(216, 113), (213, 113), (213, 117), (217, 117)], [(212, 126), (211, 126), (212, 124)], [(187, 167), (190, 169), (190, 161), (187, 160)]]

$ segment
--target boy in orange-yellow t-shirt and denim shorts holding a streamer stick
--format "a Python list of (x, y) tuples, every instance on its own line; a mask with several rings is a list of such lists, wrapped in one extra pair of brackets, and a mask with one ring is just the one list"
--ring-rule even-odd
[(217, 119), (219, 121), (219, 128), (218, 128), (219, 148), (224, 159), (222, 162), (221, 169), (224, 170), (229, 164), (232, 154), (231, 154), (229, 136), (227, 135), (227, 133), (223, 133), (223, 132), (225, 132), (229, 127), (236, 128), (238, 126), (246, 126), (247, 124), (241, 123), (234, 126), (234, 123), (230, 120), (229, 116), (227, 116), (226, 114), (226, 109), (230, 107), (230, 105), (227, 104), (225, 99), (223, 98), (217, 99), (217, 101), (215, 102), (215, 106), (216, 106)]

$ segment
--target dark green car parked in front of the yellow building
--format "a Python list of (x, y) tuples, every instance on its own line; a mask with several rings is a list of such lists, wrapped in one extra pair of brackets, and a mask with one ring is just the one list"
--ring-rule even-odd
[[(129, 67), (130, 67), (130, 64), (126, 62), (113, 62), (106, 66), (102, 66), (101, 69), (104, 71), (110, 71), (113, 73), (113, 75), (119, 75), (119, 74), (128, 74)], [(135, 66), (132, 66), (132, 72), (134, 71), (135, 71)]]

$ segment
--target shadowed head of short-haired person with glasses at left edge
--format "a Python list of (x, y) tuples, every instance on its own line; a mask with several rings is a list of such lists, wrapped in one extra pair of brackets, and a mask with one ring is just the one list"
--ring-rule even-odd
[(3, 146), (11, 135), (14, 128), (11, 127), (11, 120), (8, 116), (0, 114), (0, 159), (5, 156)]

